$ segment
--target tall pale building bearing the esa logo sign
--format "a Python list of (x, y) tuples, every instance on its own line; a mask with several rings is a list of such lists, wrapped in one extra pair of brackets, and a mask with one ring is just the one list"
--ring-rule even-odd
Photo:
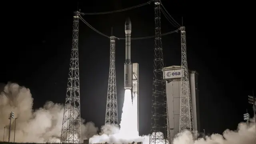
[[(164, 68), (171, 140), (173, 140), (174, 136), (180, 131), (180, 82), (182, 75), (181, 66), (169, 66)], [(196, 132), (200, 130), (198, 73), (196, 71), (189, 71), (189, 81), (194, 130)]]

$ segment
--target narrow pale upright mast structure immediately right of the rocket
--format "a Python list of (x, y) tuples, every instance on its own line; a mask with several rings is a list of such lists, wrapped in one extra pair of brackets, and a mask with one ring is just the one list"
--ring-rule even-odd
[(132, 64), (132, 105), (137, 119), (137, 130), (139, 132), (139, 64)]

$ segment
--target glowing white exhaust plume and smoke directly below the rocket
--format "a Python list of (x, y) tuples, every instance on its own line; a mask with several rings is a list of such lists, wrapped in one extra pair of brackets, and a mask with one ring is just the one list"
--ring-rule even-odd
[[(138, 135), (137, 130), (137, 117), (135, 116), (135, 108), (132, 105), (131, 90), (124, 92), (124, 105), (122, 109), (122, 117), (120, 122), (120, 130), (118, 126), (102, 126), (102, 133), (90, 138), (90, 143), (128, 143), (128, 142), (141, 142), (144, 137)], [(108, 132), (104, 131), (107, 128)], [(110, 132), (113, 130), (112, 132)]]

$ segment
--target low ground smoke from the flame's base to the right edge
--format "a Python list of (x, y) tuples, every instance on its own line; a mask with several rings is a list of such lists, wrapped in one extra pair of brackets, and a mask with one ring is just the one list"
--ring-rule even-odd
[[(104, 127), (104, 126), (103, 126)], [(111, 127), (111, 126), (109, 126)], [(118, 128), (113, 126), (113, 129), (118, 132)], [(160, 132), (156, 133), (161, 135)], [(118, 134), (101, 134), (95, 135), (89, 140), (90, 144), (105, 143), (108, 144), (127, 144), (132, 142), (143, 142), (144, 144), (149, 144), (149, 135), (138, 136), (134, 139), (124, 139), (120, 138)], [(159, 143), (164, 144), (164, 143)], [(206, 139), (199, 138), (194, 140), (193, 135), (189, 131), (184, 131), (177, 134), (172, 142), (172, 144), (256, 144), (256, 125), (254, 121), (251, 120), (249, 127), (247, 123), (242, 122), (238, 124), (238, 129), (235, 131), (225, 130), (223, 134), (212, 134), (211, 136), (206, 136)]]

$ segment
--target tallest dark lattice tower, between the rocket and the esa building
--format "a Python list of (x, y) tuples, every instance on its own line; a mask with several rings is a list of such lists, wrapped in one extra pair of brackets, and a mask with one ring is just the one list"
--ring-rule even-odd
[[(163, 50), (161, 40), (160, 0), (155, 4), (155, 48), (154, 48), (154, 78), (152, 94), (152, 119), (150, 128), (150, 144), (170, 144), (170, 130), (166, 100), (166, 86), (163, 78)], [(156, 132), (162, 132), (159, 135)], [(152, 134), (153, 133), (153, 134)]]

